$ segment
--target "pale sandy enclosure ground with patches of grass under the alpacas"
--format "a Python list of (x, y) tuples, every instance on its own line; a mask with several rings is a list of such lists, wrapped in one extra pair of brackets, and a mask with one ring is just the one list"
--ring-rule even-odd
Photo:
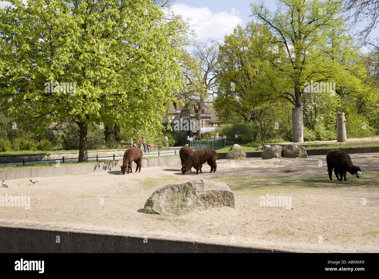
[[(325, 156), (307, 159), (219, 160), (216, 173), (184, 175), (180, 166), (6, 181), (0, 196), (30, 196), (30, 209), (0, 207), (0, 222), (196, 238), (231, 244), (379, 252), (379, 154), (352, 154), (363, 171), (348, 181), (329, 180)], [(322, 166), (321, 166), (322, 163)], [(213, 208), (180, 217), (141, 212), (155, 189), (189, 180), (225, 182), (235, 208)], [(291, 196), (291, 208), (260, 206), (260, 197)], [(101, 200), (103, 199), (103, 204)], [(365, 199), (365, 205), (362, 200)]]

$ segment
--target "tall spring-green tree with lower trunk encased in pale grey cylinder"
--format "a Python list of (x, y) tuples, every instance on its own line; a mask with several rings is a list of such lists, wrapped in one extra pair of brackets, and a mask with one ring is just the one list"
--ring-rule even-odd
[(347, 59), (333, 59), (329, 54), (340, 54), (340, 44), (334, 44), (333, 40), (338, 35), (333, 34), (336, 30), (342, 32), (346, 25), (341, 17), (341, 3), (337, 1), (280, 0), (278, 6), (280, 8), (272, 13), (263, 2), (252, 3), (252, 16), (276, 37), (273, 43), (278, 46), (277, 57), (268, 59), (271, 68), (265, 71), (266, 85), (272, 88), (273, 96), (285, 98), (295, 107), (293, 140), (301, 142), (304, 85), (312, 80), (335, 81), (343, 71)]

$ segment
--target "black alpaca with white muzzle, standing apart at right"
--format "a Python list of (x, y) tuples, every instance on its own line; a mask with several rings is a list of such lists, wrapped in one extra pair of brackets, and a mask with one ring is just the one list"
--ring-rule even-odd
[(362, 174), (360, 167), (353, 165), (350, 156), (339, 149), (328, 152), (326, 155), (326, 164), (328, 166), (330, 180), (332, 180), (333, 170), (337, 180), (339, 181), (342, 181), (342, 177), (345, 181), (347, 181), (347, 172), (351, 173), (351, 175), (356, 175), (357, 178), (359, 178), (359, 175)]

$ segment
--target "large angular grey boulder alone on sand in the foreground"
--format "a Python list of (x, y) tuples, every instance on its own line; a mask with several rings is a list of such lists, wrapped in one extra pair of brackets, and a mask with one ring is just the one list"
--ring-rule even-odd
[(147, 199), (144, 213), (180, 216), (214, 207), (234, 208), (234, 194), (223, 182), (194, 180), (167, 184)]

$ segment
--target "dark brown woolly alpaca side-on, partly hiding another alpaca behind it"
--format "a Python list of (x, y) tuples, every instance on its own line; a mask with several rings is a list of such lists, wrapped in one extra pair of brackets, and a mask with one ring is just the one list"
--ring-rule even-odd
[(201, 168), (205, 162), (211, 167), (210, 172), (216, 172), (217, 164), (216, 160), (218, 158), (218, 154), (215, 150), (211, 148), (203, 148), (193, 151), (192, 154), (189, 155), (188, 160), (184, 163), (182, 167), (182, 173), (188, 172), (191, 167), (196, 169), (196, 174), (201, 172)]

